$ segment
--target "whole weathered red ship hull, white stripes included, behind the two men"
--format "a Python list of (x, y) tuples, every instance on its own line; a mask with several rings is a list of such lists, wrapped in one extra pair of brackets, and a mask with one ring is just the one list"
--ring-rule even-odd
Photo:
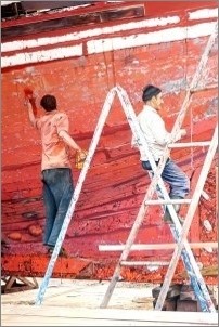
[[(88, 149), (104, 101), (113, 87), (119, 84), (126, 90), (138, 114), (142, 108), (142, 88), (149, 82), (155, 83), (164, 91), (162, 115), (170, 131), (217, 19), (214, 3), (199, 3), (199, 6), (191, 3), (191, 8), (190, 4), (173, 9), (166, 6), (166, 11), (164, 8), (153, 11), (150, 6), (146, 14), (146, 4), (138, 2), (129, 14), (126, 6), (127, 16), (121, 21), (117, 15), (117, 21), (108, 19), (98, 26), (89, 23), (53, 31), (29, 31), (40, 16), (26, 23), (26, 29), (21, 29), (23, 36), (13, 35), (11, 22), (2, 26), (5, 31), (2, 42), (3, 274), (43, 276), (50, 260), (42, 245), (44, 210), (40, 136), (28, 123), (24, 89), (34, 90), (38, 105), (43, 94), (54, 94), (59, 107), (69, 116), (72, 136)], [(112, 8), (104, 8), (104, 11)], [(123, 5), (119, 4), (118, 9)], [(101, 10), (99, 8), (98, 12)], [(76, 14), (74, 11), (72, 16)], [(61, 12), (60, 16), (69, 18), (69, 12)], [(55, 14), (55, 18), (60, 16)], [(212, 138), (217, 122), (217, 57), (215, 44), (183, 122), (188, 130), (184, 142)], [(99, 246), (126, 243), (150, 185), (139, 153), (131, 147), (130, 141), (130, 126), (119, 100), (115, 99), (65, 235), (63, 246), (68, 258), (57, 259), (54, 277), (111, 278), (120, 251), (100, 251)], [(171, 152), (172, 158), (192, 176), (191, 195), (206, 153), (206, 147)], [(74, 160), (73, 155), (76, 185), (80, 170), (76, 169)], [(217, 241), (216, 184), (214, 161), (205, 185), (209, 199), (199, 200), (189, 233), (190, 243)], [(183, 206), (183, 215), (186, 209)], [(209, 223), (207, 227), (206, 221)], [(160, 207), (151, 206), (134, 244), (173, 241), (169, 225), (163, 221)], [(165, 248), (131, 251), (131, 259), (149, 264), (143, 269), (124, 269), (123, 277), (162, 283), (171, 254), (172, 250)], [(215, 248), (201, 246), (194, 254), (203, 269), (217, 264)], [(163, 263), (153, 264), (153, 261)], [(183, 274), (180, 262), (175, 279), (182, 280)], [(209, 284), (217, 283), (214, 273), (205, 277)]]

